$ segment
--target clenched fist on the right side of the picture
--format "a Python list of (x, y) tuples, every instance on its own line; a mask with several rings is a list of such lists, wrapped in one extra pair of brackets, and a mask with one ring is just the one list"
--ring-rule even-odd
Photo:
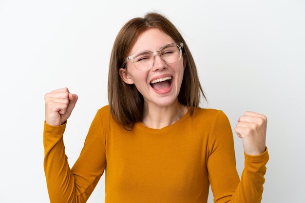
[(235, 132), (243, 140), (244, 151), (249, 155), (259, 155), (266, 151), (267, 117), (246, 111), (237, 120)]

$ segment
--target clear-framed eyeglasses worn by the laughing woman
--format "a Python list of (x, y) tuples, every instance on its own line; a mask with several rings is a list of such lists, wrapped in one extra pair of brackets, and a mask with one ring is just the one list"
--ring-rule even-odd
[(168, 64), (173, 64), (176, 63), (177, 61), (180, 60), (181, 55), (182, 55), (182, 47), (183, 43), (178, 42), (178, 43), (172, 43), (172, 44), (167, 44), (159, 51), (140, 51), (137, 52), (131, 56), (128, 56), (122, 66), (122, 68), (125, 66), (125, 64), (129, 61), (133, 61), (133, 65), (136, 69), (141, 70), (141, 71), (148, 71), (152, 68), (154, 62), (155, 62), (155, 56), (157, 54), (160, 55), (161, 59)]

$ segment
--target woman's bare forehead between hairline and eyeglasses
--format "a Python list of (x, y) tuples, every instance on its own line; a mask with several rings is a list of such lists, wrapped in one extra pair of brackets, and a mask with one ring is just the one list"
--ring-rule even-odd
[(138, 37), (130, 54), (139, 51), (158, 51), (166, 44), (175, 43), (171, 36), (158, 28), (151, 28)]

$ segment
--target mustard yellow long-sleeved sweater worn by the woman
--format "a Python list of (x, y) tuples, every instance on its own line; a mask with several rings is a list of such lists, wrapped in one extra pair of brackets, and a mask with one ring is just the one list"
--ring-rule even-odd
[(174, 124), (132, 131), (118, 125), (109, 106), (99, 109), (79, 158), (69, 168), (67, 122), (44, 122), (44, 170), (51, 203), (84, 203), (106, 171), (105, 203), (259, 203), (269, 155), (245, 155), (239, 179), (229, 119), (221, 110), (196, 108)]

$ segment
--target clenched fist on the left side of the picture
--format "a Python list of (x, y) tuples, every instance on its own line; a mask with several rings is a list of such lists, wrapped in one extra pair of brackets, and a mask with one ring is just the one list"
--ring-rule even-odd
[(49, 125), (62, 125), (71, 115), (78, 96), (67, 87), (53, 90), (44, 95), (45, 121)]

